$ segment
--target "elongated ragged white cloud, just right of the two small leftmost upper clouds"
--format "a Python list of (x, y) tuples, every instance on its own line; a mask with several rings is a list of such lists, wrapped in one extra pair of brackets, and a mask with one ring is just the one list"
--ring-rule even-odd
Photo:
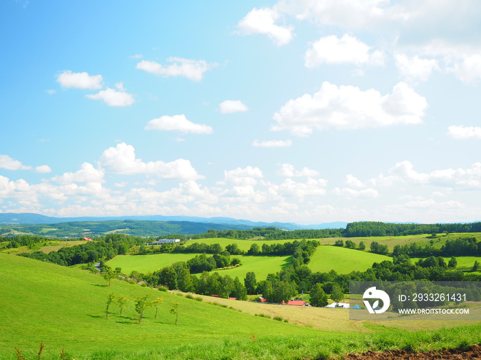
[(190, 60), (175, 57), (168, 58), (167, 62), (172, 62), (172, 64), (164, 66), (155, 61), (142, 60), (135, 68), (153, 73), (154, 75), (164, 77), (181, 76), (187, 77), (192, 81), (200, 81), (205, 71), (217, 66), (216, 63), (208, 64), (205, 60)]

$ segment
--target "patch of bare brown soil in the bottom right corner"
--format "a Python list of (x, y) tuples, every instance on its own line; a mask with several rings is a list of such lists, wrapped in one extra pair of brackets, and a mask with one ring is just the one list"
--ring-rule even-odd
[(481, 345), (473, 345), (469, 348), (445, 349), (428, 352), (409, 352), (407, 350), (386, 350), (384, 352), (368, 351), (363, 354), (350, 354), (343, 358), (344, 360), (432, 360), (432, 359), (480, 359)]

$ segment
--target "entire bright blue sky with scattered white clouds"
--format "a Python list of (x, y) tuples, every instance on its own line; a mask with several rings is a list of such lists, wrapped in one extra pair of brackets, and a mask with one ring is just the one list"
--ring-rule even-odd
[(476, 0), (0, 4), (0, 212), (481, 219)]

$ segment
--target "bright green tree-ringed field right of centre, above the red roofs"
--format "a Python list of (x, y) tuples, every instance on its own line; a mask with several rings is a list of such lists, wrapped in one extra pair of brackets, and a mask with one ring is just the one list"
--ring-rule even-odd
[(313, 254), (309, 267), (313, 272), (329, 272), (333, 269), (338, 274), (349, 274), (353, 271), (364, 271), (371, 267), (372, 263), (384, 260), (392, 261), (392, 258), (339, 246), (321, 245)]

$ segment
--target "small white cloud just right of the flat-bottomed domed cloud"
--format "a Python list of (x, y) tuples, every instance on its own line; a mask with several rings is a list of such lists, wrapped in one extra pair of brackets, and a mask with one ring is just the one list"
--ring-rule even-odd
[(436, 59), (422, 59), (417, 55), (410, 58), (405, 53), (394, 53), (394, 60), (401, 76), (414, 82), (425, 81), (434, 70), (440, 70)]

